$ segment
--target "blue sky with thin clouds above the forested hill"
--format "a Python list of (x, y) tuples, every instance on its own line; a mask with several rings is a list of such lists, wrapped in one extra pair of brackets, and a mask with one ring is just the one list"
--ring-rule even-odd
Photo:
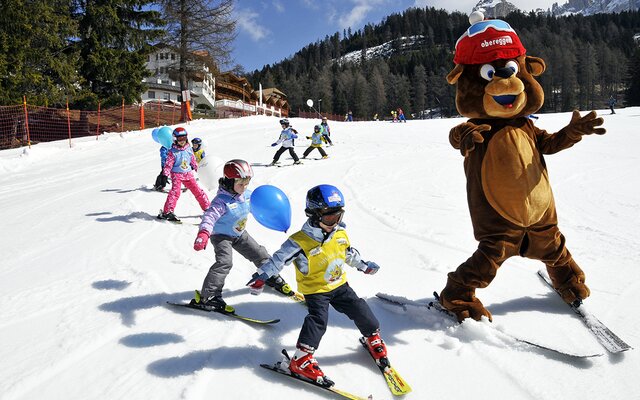
[[(498, 1), (498, 0), (496, 0)], [(471, 12), (478, 0), (236, 0), (238, 36), (235, 64), (246, 72), (277, 63), (325, 36), (367, 23), (409, 7), (436, 7)], [(562, 0), (510, 0), (523, 10), (551, 7)], [(516, 28), (517, 29), (517, 28)]]

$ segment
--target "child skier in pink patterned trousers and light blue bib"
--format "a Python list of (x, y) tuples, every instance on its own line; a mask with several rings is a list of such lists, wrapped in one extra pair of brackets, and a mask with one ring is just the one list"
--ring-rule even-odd
[(183, 184), (191, 191), (196, 200), (198, 200), (198, 204), (200, 204), (200, 208), (202, 208), (203, 211), (209, 207), (209, 197), (204, 190), (198, 186), (196, 178), (193, 176), (192, 171), (198, 170), (198, 163), (196, 162), (196, 157), (193, 154), (191, 146), (189, 146), (186, 129), (181, 127), (174, 129), (173, 136), (175, 137), (175, 141), (171, 149), (169, 149), (167, 161), (162, 171), (165, 176), (171, 174), (171, 190), (169, 190), (163, 210), (158, 214), (158, 219), (180, 222), (173, 213), (173, 210), (175, 210), (176, 203), (180, 198), (180, 189)]

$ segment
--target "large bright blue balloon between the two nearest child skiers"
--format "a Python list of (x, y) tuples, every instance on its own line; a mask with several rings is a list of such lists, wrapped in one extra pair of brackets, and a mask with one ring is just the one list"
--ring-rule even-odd
[(251, 193), (251, 214), (261, 225), (286, 232), (291, 226), (291, 204), (286, 194), (275, 186), (258, 186)]

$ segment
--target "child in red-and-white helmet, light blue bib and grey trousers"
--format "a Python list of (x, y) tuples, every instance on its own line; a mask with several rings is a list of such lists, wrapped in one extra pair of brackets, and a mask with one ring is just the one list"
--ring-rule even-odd
[[(245, 160), (231, 160), (224, 165), (223, 176), (218, 181), (218, 194), (202, 216), (200, 231), (193, 244), (194, 250), (200, 251), (211, 240), (216, 261), (204, 278), (202, 290), (196, 290), (191, 304), (204, 309), (233, 312), (233, 307), (222, 299), (224, 281), (233, 266), (233, 249), (256, 267), (269, 260), (269, 253), (245, 230), (251, 197), (247, 186), (253, 177), (251, 165)], [(266, 283), (287, 296), (295, 294), (278, 274), (274, 274)]]

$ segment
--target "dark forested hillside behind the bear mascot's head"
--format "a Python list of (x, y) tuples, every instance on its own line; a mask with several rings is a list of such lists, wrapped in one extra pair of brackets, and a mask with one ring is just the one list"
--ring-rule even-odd
[[(640, 105), (640, 13), (552, 17), (515, 12), (504, 18), (527, 54), (541, 57), (539, 78), (546, 101), (541, 112)], [(445, 77), (453, 68), (456, 40), (468, 16), (435, 8), (411, 8), (357, 32), (346, 30), (310, 44), (290, 58), (249, 74), (255, 86), (275, 86), (291, 110), (306, 110), (306, 99), (322, 99), (322, 111), (370, 119), (401, 107), (416, 117), (455, 115), (455, 91)], [(390, 55), (366, 57), (385, 45)], [(341, 60), (356, 52), (350, 62)], [(352, 53), (353, 55), (353, 53)], [(425, 112), (427, 111), (427, 112)]]

